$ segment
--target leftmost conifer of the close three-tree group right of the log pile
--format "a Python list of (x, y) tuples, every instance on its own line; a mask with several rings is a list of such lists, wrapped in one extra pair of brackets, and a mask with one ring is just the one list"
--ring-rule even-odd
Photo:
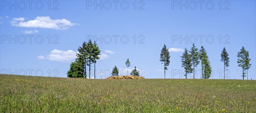
[(191, 63), (191, 55), (189, 55), (188, 50), (185, 48), (182, 56), (181, 56), (181, 67), (184, 67), (184, 70), (186, 72), (186, 78), (188, 73), (192, 73), (192, 63)]

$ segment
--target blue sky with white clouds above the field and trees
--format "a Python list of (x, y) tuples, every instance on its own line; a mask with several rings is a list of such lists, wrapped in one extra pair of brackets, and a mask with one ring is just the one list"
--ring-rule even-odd
[[(227, 76), (242, 79), (236, 55), (244, 46), (252, 64), (248, 79), (256, 79), (256, 2), (253, 0), (202, 3), (63, 0), (10, 4), (15, 1), (1, 0), (0, 4), (1, 73), (67, 77), (78, 46), (92, 35), (102, 51), (96, 63), (96, 78), (108, 77), (115, 65), (119, 72), (126, 69), (127, 58), (131, 61), (129, 70), (136, 66), (145, 78), (163, 78), (163, 64), (159, 61), (163, 44), (172, 48), (166, 78), (185, 78), (180, 56), (182, 49), (190, 49), (195, 43), (207, 50), (213, 79), (223, 79), (220, 61), (223, 47), (230, 55)], [(200, 69), (199, 64), (196, 70), (200, 72)], [(200, 78), (200, 73), (195, 78)]]

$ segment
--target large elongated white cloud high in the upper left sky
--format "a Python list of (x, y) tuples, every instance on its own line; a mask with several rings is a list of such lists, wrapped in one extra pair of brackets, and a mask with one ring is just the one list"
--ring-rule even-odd
[(66, 29), (69, 29), (70, 26), (76, 25), (76, 23), (71, 23), (69, 20), (66, 20), (66, 19), (52, 20), (48, 16), (36, 17), (35, 20), (29, 20), (27, 22), (23, 22), (24, 20), (25, 20), (24, 17), (13, 18), (11, 25), (19, 26), (19, 27), (60, 29), (60, 30), (66, 30)]

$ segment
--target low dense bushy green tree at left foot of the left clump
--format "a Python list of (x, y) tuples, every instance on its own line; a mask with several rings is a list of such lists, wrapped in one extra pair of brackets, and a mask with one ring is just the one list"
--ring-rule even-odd
[[(70, 64), (70, 70), (67, 72), (67, 77), (69, 78), (82, 78), (83, 75), (83, 68), (82, 63), (79, 61), (72, 62)], [(85, 75), (86, 77), (86, 75)]]

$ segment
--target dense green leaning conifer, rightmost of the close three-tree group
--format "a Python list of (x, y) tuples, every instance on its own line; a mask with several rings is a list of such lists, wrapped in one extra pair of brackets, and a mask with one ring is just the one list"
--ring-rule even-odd
[(209, 78), (212, 74), (212, 67), (204, 46), (201, 46), (201, 49), (199, 50), (199, 59), (201, 60), (202, 66), (202, 78)]

